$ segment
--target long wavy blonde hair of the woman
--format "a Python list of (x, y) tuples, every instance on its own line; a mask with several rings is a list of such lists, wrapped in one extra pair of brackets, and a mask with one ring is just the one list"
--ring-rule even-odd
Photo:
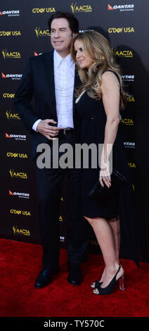
[(115, 57), (112, 54), (110, 49), (110, 43), (108, 39), (103, 37), (101, 33), (96, 31), (86, 31), (81, 32), (74, 38), (70, 54), (75, 63), (76, 56), (74, 52), (74, 42), (80, 40), (84, 44), (84, 50), (89, 54), (93, 65), (88, 70), (87, 68), (79, 68), (79, 77), (82, 82), (76, 89), (76, 96), (79, 96), (80, 93), (85, 89), (89, 96), (93, 99), (101, 99), (101, 80), (102, 75), (106, 70), (114, 71), (119, 77), (120, 85), (120, 109), (124, 109), (127, 103), (127, 92), (124, 92), (124, 87), (122, 83), (121, 70), (119, 65), (115, 61)]

